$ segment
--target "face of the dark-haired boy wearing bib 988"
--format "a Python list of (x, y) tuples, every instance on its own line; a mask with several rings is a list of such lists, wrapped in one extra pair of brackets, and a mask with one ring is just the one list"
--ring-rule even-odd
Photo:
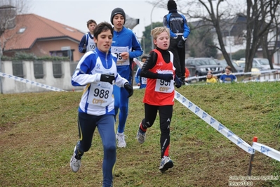
[(107, 30), (98, 34), (98, 38), (94, 37), (93, 40), (100, 51), (107, 53), (111, 47), (113, 35), (110, 30)]

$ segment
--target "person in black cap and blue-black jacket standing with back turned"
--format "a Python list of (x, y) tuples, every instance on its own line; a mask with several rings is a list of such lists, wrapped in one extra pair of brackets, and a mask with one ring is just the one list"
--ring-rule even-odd
[(174, 0), (167, 3), (169, 13), (164, 16), (164, 26), (170, 30), (169, 51), (174, 55), (175, 73), (180, 77), (182, 84), (185, 84), (185, 41), (190, 30), (184, 15), (178, 13), (177, 4)]

